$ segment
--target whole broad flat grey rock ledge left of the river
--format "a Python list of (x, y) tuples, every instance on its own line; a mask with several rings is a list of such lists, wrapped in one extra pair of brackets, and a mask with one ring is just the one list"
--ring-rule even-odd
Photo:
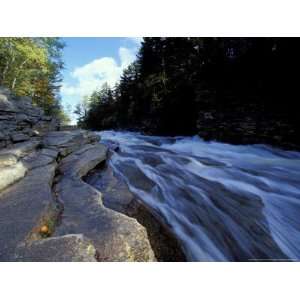
[(52, 131), (0, 151), (0, 261), (155, 261), (146, 229), (82, 180), (100, 137)]

